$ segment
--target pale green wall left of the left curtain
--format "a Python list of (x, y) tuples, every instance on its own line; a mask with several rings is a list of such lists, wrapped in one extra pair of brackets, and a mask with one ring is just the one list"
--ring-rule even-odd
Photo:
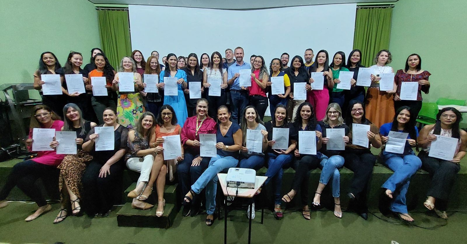
[(100, 47), (97, 12), (88, 0), (9, 0), (0, 10), (0, 84), (33, 82), (42, 52), (64, 65), (70, 51), (83, 54)]

